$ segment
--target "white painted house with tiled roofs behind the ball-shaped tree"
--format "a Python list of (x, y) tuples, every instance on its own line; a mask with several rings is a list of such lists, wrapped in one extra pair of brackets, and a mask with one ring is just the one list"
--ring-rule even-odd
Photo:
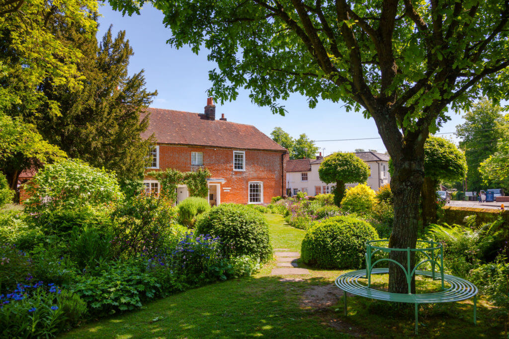
[[(357, 157), (370, 166), (371, 174), (367, 178), (367, 186), (377, 191), (390, 182), (389, 156), (378, 152), (357, 152)], [(308, 196), (330, 193), (335, 184), (326, 184), (320, 180), (318, 168), (323, 161), (322, 153), (316, 159), (287, 160), (287, 195), (294, 196), (297, 192), (305, 192)], [(357, 183), (347, 184), (354, 187)]]

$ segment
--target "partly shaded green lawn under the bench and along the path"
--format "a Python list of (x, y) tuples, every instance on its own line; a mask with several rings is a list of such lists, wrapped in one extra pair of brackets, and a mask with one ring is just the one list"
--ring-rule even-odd
[[(305, 231), (286, 226), (277, 214), (266, 214), (274, 248), (300, 251)], [(301, 281), (281, 282), (270, 275), (275, 261), (256, 275), (215, 283), (147, 303), (141, 310), (89, 322), (68, 337), (399, 337), (413, 335), (413, 305), (388, 317), (390, 305), (349, 297), (349, 316), (343, 316), (341, 295), (331, 286), (341, 271), (307, 267), (309, 275), (287, 276)], [(299, 267), (306, 267), (299, 263)], [(375, 284), (383, 286), (379, 278)], [(420, 284), (426, 288), (427, 284)], [(430, 288), (433, 288), (432, 286)], [(329, 301), (329, 302), (327, 302)], [(490, 305), (478, 301), (477, 326), (472, 302), (423, 305), (419, 311), (422, 337), (495, 337), (502, 327), (491, 318)]]

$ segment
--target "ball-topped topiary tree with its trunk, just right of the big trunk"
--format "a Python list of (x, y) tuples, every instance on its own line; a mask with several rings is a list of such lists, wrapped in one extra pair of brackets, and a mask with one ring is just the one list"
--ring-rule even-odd
[(440, 180), (462, 179), (467, 172), (465, 154), (444, 138), (430, 137), (424, 144), (424, 181), (422, 183), (422, 222), (437, 221), (436, 190)]

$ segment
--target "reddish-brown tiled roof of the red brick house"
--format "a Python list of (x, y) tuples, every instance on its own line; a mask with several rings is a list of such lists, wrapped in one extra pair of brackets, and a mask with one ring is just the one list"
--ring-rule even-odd
[[(251, 125), (209, 120), (205, 114), (148, 108), (150, 124), (142, 138), (152, 134), (158, 143), (286, 151)], [(142, 118), (143, 118), (142, 114)]]

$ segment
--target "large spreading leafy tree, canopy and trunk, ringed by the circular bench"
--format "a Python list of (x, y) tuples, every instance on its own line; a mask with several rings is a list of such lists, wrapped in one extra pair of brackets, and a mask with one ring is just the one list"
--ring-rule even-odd
[[(147, 1), (109, 0), (138, 13)], [(167, 42), (209, 50), (211, 94), (285, 113), (291, 93), (345, 103), (373, 117), (394, 162), (389, 246), (414, 248), (424, 143), (448, 119), (486, 95), (507, 99), (509, 2), (436, 0), (150, 0), (172, 30)], [(405, 253), (390, 257), (406, 265)], [(412, 256), (411, 262), (414, 261)], [(414, 282), (412, 281), (412, 291)], [(407, 293), (389, 266), (389, 291)]]

